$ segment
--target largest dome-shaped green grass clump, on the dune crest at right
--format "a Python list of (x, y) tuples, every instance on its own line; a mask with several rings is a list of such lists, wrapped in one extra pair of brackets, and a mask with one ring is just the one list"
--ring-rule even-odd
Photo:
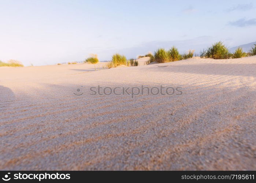
[(212, 59), (230, 59), (232, 54), (229, 52), (223, 42), (219, 41), (213, 44), (207, 50), (201, 52), (200, 57)]

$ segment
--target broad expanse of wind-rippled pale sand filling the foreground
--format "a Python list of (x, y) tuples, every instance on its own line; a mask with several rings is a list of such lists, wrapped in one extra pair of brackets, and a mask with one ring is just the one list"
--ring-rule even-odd
[[(89, 95), (97, 85), (183, 94)], [(5, 67), (0, 92), (1, 170), (256, 170), (256, 56)]]

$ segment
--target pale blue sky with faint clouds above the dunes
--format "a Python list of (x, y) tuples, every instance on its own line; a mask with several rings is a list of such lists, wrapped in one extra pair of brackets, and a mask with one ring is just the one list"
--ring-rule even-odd
[(40, 66), (233, 47), (256, 41), (255, 12), (253, 0), (0, 0), (0, 60)]

